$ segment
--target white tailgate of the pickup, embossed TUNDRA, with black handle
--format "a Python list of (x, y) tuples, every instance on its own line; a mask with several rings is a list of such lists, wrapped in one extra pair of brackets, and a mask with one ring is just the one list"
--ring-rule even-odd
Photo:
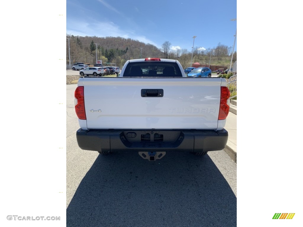
[(217, 129), (226, 81), (88, 77), (78, 86), (84, 86), (88, 129)]

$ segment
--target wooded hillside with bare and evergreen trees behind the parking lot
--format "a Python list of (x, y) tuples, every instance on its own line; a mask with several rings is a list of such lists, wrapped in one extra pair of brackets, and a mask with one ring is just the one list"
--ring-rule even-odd
[[(75, 62), (94, 64), (96, 60), (102, 60), (103, 63), (114, 63), (116, 66), (122, 67), (125, 61), (140, 58), (141, 56), (142, 58), (178, 59), (183, 67), (189, 66), (188, 64), (191, 62), (191, 50), (172, 51), (169, 41), (165, 41), (160, 49), (152, 44), (145, 44), (138, 40), (122, 37), (66, 35), (66, 38), (66, 64), (69, 64), (69, 51), (71, 64)], [(231, 47), (219, 43), (211, 54), (211, 58), (214, 61), (216, 61), (216, 58), (226, 58), (231, 54)], [(234, 56), (236, 60), (236, 54)], [(198, 61), (203, 64), (203, 61), (209, 61), (209, 58), (210, 51), (208, 49), (194, 48), (193, 62)]]

